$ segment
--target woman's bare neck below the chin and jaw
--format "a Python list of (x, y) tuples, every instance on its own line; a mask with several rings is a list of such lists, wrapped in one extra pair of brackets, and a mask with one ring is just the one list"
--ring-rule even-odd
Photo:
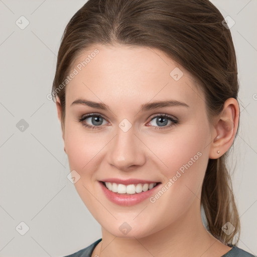
[(221, 256), (230, 248), (205, 229), (200, 201), (198, 198), (196, 201), (198, 204), (192, 204), (191, 209), (174, 223), (143, 238), (116, 237), (102, 228), (102, 241), (94, 249), (92, 256)]

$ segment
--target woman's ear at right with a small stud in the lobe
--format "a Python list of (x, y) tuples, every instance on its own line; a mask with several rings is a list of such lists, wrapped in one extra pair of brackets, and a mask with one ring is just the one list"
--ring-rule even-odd
[(209, 158), (217, 159), (231, 147), (239, 121), (239, 105), (236, 99), (228, 98), (220, 115), (215, 118)]

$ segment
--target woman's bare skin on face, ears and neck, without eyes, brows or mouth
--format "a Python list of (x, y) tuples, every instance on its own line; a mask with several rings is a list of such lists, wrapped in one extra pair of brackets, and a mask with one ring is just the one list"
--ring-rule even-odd
[[(220, 157), (233, 143), (237, 101), (227, 99), (223, 111), (210, 123), (205, 96), (194, 78), (157, 49), (95, 45), (77, 57), (71, 70), (95, 48), (99, 50), (96, 57), (66, 86), (63, 132), (70, 170), (80, 175), (74, 184), (76, 190), (102, 228), (102, 241), (92, 256), (225, 254), (231, 247), (216, 240), (203, 226), (200, 197), (208, 159)], [(176, 67), (184, 73), (178, 81), (170, 76)], [(102, 102), (109, 109), (71, 105), (78, 98)], [(139, 111), (141, 104), (168, 99), (189, 107)], [(62, 122), (58, 98), (56, 105)], [(101, 129), (90, 130), (78, 122), (90, 113), (103, 116)], [(160, 114), (176, 117), (178, 123), (168, 127), (168, 121), (166, 129), (160, 129)], [(127, 132), (118, 126), (124, 118), (132, 124)], [(83, 122), (93, 125), (92, 118)], [(97, 182), (115, 177), (165, 185), (198, 152), (201, 157), (155, 203), (147, 199), (133, 206), (118, 206), (105, 197)], [(132, 228), (126, 235), (119, 230), (123, 222)]]

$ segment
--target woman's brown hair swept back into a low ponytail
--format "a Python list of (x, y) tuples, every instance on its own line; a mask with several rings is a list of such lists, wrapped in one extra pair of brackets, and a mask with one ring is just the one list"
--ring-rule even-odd
[[(61, 102), (63, 131), (65, 87), (60, 85), (76, 57), (95, 44), (163, 51), (199, 82), (208, 117), (219, 115), (225, 100), (238, 93), (234, 46), (223, 20), (208, 0), (89, 0), (69, 21), (58, 52), (52, 95)], [(239, 238), (240, 222), (225, 159), (226, 154), (209, 159), (201, 204), (208, 231), (231, 245), (236, 233)], [(229, 235), (222, 230), (226, 222), (235, 227)]]

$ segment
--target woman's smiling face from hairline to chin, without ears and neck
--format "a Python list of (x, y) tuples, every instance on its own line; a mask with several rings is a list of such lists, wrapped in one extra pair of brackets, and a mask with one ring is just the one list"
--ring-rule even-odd
[(213, 136), (193, 77), (157, 49), (127, 46), (96, 45), (72, 71), (64, 144), (76, 190), (102, 228), (140, 238), (193, 215)]

